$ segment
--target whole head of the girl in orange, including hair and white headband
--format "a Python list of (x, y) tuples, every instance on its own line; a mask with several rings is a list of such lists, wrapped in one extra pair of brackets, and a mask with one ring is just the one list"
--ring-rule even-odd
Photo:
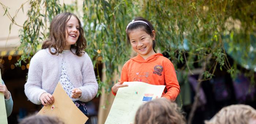
[[(142, 55), (152, 51), (156, 53), (155, 30), (148, 20), (141, 17), (132, 20), (126, 28), (126, 34), (128, 43), (131, 43), (137, 53)], [(144, 45), (139, 44), (138, 41), (143, 41)]]

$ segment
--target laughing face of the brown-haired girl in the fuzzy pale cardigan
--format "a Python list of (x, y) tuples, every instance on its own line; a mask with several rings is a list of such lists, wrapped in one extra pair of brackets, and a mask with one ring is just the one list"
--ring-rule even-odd
[(71, 16), (71, 18), (67, 22), (67, 30), (66, 30), (66, 46), (64, 50), (70, 50), (72, 44), (75, 44), (79, 38), (79, 22), (75, 18), (75, 16)]

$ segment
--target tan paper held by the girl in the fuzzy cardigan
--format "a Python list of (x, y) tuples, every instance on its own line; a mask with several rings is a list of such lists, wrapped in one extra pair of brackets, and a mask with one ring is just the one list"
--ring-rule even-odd
[(60, 82), (57, 84), (52, 96), (54, 97), (53, 105), (44, 106), (38, 112), (38, 115), (57, 116), (65, 124), (84, 124), (88, 120), (88, 117), (68, 97)]

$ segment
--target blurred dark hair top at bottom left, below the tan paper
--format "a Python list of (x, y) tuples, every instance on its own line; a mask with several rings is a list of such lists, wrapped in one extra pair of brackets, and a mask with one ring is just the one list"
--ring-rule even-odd
[(65, 124), (55, 116), (33, 115), (26, 117), (19, 124)]

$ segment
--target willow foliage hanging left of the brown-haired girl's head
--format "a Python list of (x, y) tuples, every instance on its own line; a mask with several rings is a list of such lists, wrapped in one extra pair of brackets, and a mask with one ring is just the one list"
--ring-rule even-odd
[[(55, 15), (60, 13), (61, 5), (55, 0), (31, 0), (30, 9), (27, 11), (27, 20), (23, 24), (23, 28), (19, 31), (20, 46), (19, 51), (23, 51), (19, 62), (16, 65), (21, 66), (20, 61), (30, 59), (39, 49), (41, 43), (45, 40), (49, 33), (47, 25)], [(45, 10), (43, 9), (45, 8)]]

